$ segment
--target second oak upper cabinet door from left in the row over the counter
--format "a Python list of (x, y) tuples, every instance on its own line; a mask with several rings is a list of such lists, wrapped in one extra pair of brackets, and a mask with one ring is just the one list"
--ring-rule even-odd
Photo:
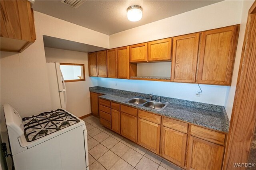
[(96, 52), (97, 55), (97, 76), (107, 77), (107, 54), (106, 50)]

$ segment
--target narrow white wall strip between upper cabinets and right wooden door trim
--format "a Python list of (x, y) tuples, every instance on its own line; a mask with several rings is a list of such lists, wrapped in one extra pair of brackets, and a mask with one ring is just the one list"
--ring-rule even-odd
[(243, 2), (242, 5), (242, 13), (241, 13), (241, 25), (240, 25), (240, 32), (239, 32), (239, 38), (238, 38), (238, 47), (236, 50), (236, 60), (234, 64), (234, 71), (232, 76), (232, 83), (231, 86), (228, 89), (227, 92), (227, 98), (225, 103), (225, 108), (228, 113), (229, 119), (231, 118), (233, 103), (234, 103), (234, 96), (236, 92), (236, 82), (238, 78), (238, 70), (240, 65), (240, 59), (242, 54), (242, 46), (244, 41), (244, 34), (245, 34), (245, 28), (246, 28), (246, 22), (248, 17), (248, 10), (253, 4), (253, 0), (246, 0)]

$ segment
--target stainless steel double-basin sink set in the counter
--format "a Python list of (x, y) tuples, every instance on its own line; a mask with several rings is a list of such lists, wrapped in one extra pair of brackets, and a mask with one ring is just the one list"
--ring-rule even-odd
[(131, 98), (130, 100), (127, 101), (127, 103), (148, 107), (151, 109), (155, 109), (157, 111), (161, 111), (162, 109), (164, 109), (164, 107), (168, 106), (169, 104), (168, 102), (156, 102), (154, 100), (145, 99), (141, 97)]

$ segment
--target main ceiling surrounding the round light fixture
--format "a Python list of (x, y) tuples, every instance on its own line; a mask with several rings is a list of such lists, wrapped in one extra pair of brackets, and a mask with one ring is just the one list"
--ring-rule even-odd
[[(107, 35), (175, 16), (220, 0), (87, 0), (77, 9), (60, 0), (35, 0), (35, 11), (86, 27)], [(126, 9), (131, 5), (143, 8), (142, 20), (131, 22)]]

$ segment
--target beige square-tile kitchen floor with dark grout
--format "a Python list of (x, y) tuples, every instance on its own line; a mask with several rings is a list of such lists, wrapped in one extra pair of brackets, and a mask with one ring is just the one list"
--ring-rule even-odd
[(90, 170), (181, 170), (147, 149), (100, 125), (97, 117), (83, 119), (88, 130)]

